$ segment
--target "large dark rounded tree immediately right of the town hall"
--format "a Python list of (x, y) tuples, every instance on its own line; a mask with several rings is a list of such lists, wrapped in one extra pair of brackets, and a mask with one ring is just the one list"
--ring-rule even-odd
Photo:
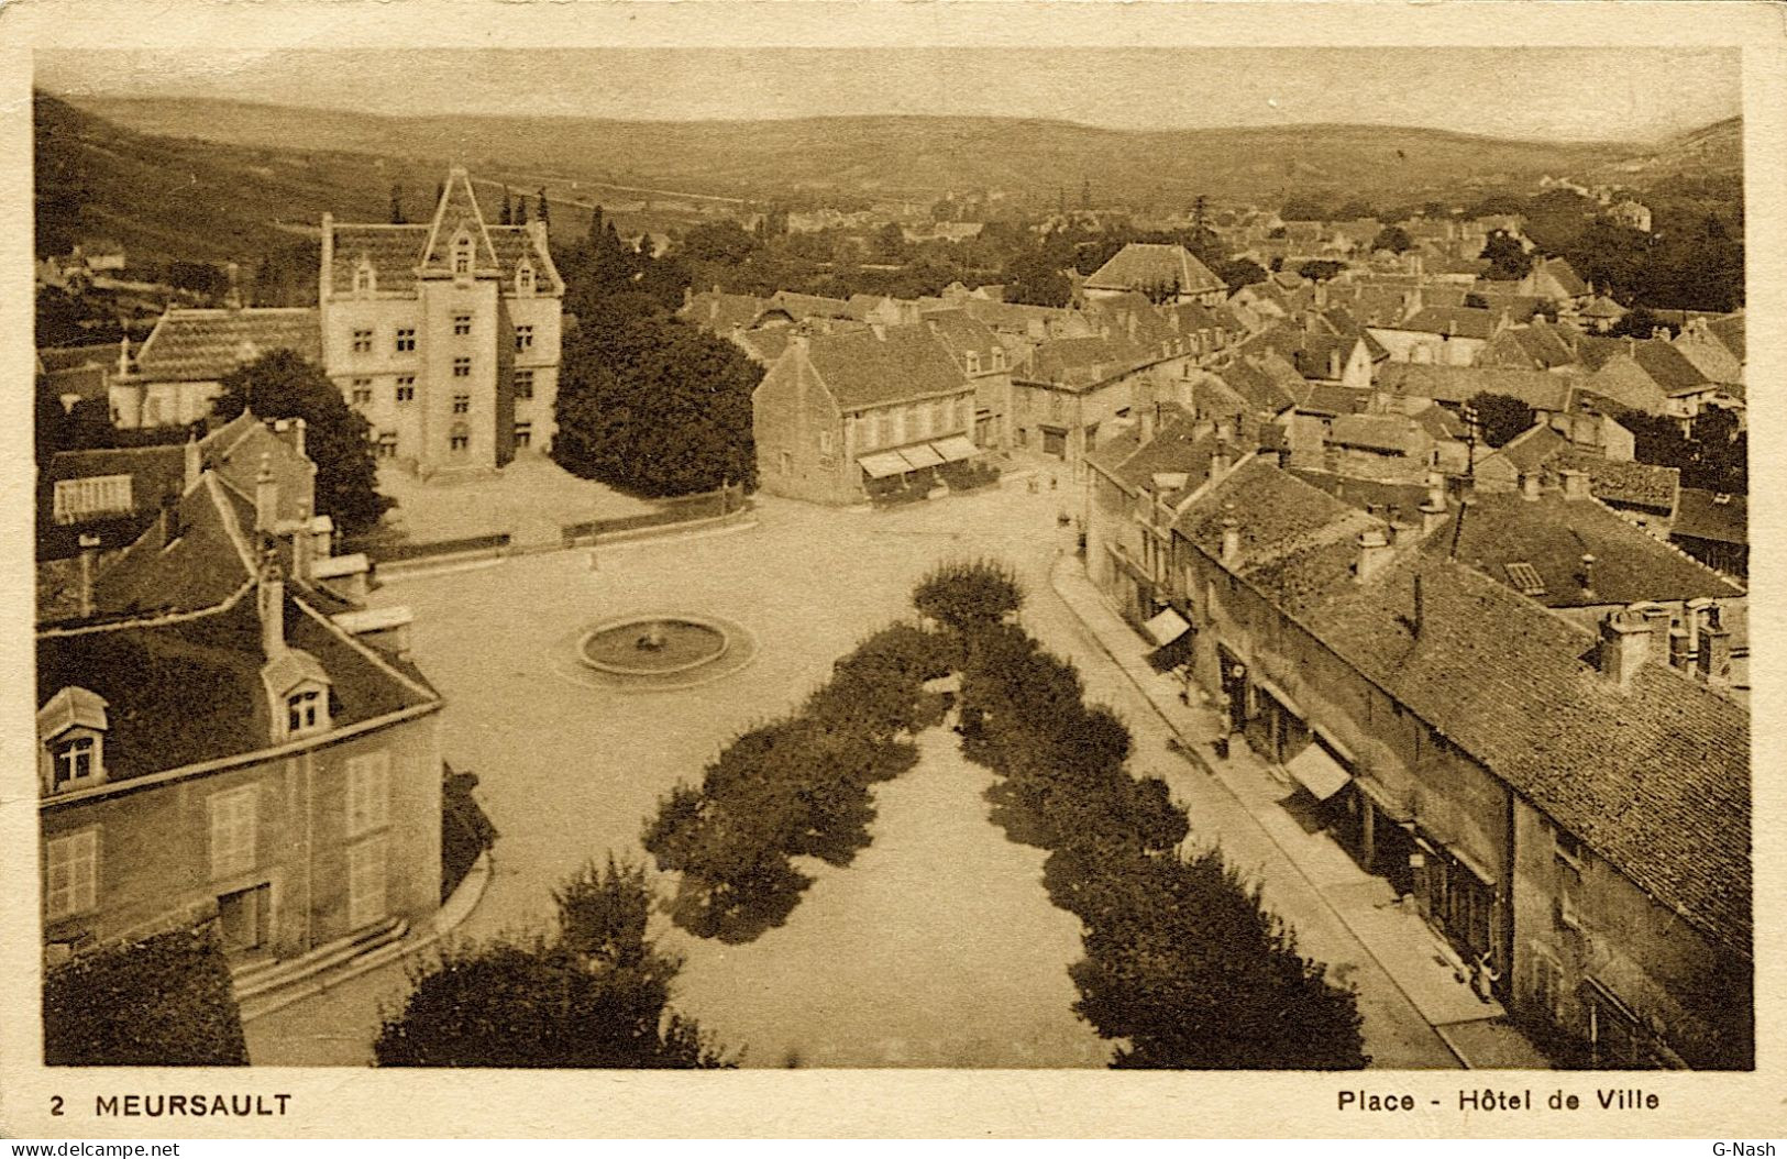
[(633, 295), (565, 341), (552, 457), (638, 495), (756, 486), (751, 391), (763, 370), (726, 339)]

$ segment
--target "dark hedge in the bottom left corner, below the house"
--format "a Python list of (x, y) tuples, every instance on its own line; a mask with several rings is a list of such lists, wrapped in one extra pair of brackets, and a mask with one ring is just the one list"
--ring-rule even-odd
[(213, 923), (45, 971), (48, 1066), (247, 1066), (248, 1043)]

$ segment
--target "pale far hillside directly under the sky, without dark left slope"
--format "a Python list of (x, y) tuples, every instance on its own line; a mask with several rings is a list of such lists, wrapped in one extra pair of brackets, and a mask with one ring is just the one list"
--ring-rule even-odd
[(1292, 191), (1408, 204), (1540, 173), (1587, 171), (1630, 146), (1506, 141), (1430, 129), (1297, 125), (1128, 132), (1063, 121), (849, 116), (783, 121), (384, 118), (214, 100), (105, 100), (86, 109), (138, 132), (243, 148), (459, 157), (477, 168), (665, 184), (693, 193), (935, 196), (1094, 182), (1099, 200), (1278, 200)]

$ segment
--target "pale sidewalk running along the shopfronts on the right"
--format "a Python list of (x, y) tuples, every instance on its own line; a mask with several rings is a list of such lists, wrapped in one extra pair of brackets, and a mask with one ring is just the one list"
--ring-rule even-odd
[[(1476, 996), (1451, 948), (1417, 913), (1397, 905), (1388, 882), (1362, 870), (1322, 830), (1299, 821), (1299, 813), (1285, 804), (1296, 789), (1288, 777), (1256, 757), (1238, 738), (1226, 761), (1213, 759), (1210, 741), (1221, 734), (1217, 713), (1201, 704), (1196, 693), (1190, 705), (1179, 702), (1181, 682), (1147, 664), (1142, 638), (1112, 611), (1076, 557), (1063, 554), (1056, 559), (1049, 580), (1061, 602), (1185, 745), (1185, 764), (1226, 789), (1283, 855), (1287, 868), (1303, 879), (1351, 934), (1355, 959), (1328, 955), (1337, 975), (1353, 973), (1356, 982), (1365, 982), (1356, 968), (1380, 968), (1465, 1066), (1549, 1068), (1546, 1057), (1506, 1023), (1501, 1004)], [(1194, 832), (1196, 827), (1194, 818)], [(1346, 970), (1347, 966), (1355, 970)]]

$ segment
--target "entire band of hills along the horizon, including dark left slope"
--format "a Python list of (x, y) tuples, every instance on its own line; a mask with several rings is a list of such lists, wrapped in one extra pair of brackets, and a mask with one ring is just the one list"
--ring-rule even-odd
[(388, 118), (172, 98), (82, 98), (77, 107), (48, 95), (39, 95), (38, 120), (39, 154), (48, 148), (55, 163), (39, 155), (39, 182), (84, 189), (80, 234), (198, 261), (263, 254), (291, 239), (279, 223), (315, 225), (323, 211), (386, 220), (393, 182), (406, 188), (413, 216), (425, 213), (450, 161), (516, 189), (552, 184), (556, 195), (566, 180), (752, 200), (1006, 189), (1042, 209), (1063, 193), (1078, 204), (1090, 182), (1101, 204), (1181, 211), (1197, 195), (1279, 204), (1328, 193), (1417, 205), (1531, 191), (1544, 173), (1644, 188), (1742, 168), (1735, 120), (1649, 146), (1376, 125), (1131, 132), (958, 116)]

